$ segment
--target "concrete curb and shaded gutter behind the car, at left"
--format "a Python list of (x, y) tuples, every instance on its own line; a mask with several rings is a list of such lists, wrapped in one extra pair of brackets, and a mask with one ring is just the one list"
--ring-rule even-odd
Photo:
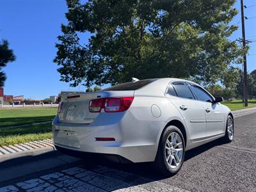
[(60, 154), (55, 147), (43, 147), (0, 156), (0, 184), (7, 180), (76, 163), (80, 159)]

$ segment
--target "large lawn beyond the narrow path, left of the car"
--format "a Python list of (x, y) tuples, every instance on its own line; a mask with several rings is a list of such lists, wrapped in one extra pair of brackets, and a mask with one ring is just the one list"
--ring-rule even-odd
[(0, 109), (0, 128), (53, 120), (57, 108)]

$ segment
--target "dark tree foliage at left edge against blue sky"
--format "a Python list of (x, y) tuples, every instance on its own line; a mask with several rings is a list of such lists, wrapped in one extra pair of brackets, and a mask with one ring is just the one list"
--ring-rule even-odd
[(2, 71), (3, 67), (6, 67), (7, 63), (15, 61), (15, 55), (12, 49), (9, 49), (9, 44), (7, 40), (0, 42), (0, 87), (4, 86), (4, 81), (6, 80), (6, 75)]

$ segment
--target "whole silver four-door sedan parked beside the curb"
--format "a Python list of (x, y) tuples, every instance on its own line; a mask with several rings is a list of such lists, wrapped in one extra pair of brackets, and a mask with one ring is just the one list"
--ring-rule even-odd
[(179, 172), (185, 151), (234, 137), (234, 118), (222, 97), (184, 79), (134, 79), (100, 92), (62, 98), (52, 122), (54, 145), (65, 154), (153, 162)]

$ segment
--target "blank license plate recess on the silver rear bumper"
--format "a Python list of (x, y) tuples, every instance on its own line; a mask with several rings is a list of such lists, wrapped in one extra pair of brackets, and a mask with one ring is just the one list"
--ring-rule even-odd
[(80, 143), (75, 131), (55, 130), (54, 143), (67, 147), (80, 148)]

